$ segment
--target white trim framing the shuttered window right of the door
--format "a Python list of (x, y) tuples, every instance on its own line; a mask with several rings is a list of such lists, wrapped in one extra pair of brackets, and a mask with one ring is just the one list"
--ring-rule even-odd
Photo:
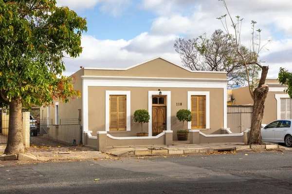
[[(227, 93), (226, 93), (227, 94)], [(206, 96), (206, 129), (210, 129), (210, 92), (195, 92), (188, 91), (187, 92), (187, 109), (191, 111), (191, 96)], [(226, 96), (226, 95), (225, 95)], [(187, 128), (191, 129), (191, 122), (187, 123)]]

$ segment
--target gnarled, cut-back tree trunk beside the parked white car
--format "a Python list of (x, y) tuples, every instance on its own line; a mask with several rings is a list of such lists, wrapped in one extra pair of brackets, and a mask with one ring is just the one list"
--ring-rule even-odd
[(248, 145), (258, 144), (264, 145), (265, 143), (261, 139), (261, 123), (264, 114), (264, 104), (268, 95), (269, 86), (265, 85), (269, 67), (263, 66), (261, 78), (258, 83), (258, 87), (254, 90), (254, 111), (251, 125), (251, 131), (249, 134)]

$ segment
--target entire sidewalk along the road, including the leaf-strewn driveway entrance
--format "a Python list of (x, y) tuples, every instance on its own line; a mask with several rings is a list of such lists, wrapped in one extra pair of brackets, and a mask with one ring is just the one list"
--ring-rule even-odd
[[(6, 145), (0, 145), (0, 156), (3, 155)], [(41, 162), (57, 161), (81, 161), (81, 160), (106, 160), (113, 159), (112, 156), (155, 156), (155, 155), (185, 155), (214, 153), (220, 151), (239, 150), (264, 150), (264, 149), (289, 149), (276, 144), (246, 146), (238, 144), (200, 144), (200, 145), (176, 145), (174, 146), (134, 146), (109, 148), (106, 153), (102, 153), (85, 146), (44, 146), (30, 147), (25, 154), (37, 157)], [(112, 156), (110, 156), (112, 155)]]

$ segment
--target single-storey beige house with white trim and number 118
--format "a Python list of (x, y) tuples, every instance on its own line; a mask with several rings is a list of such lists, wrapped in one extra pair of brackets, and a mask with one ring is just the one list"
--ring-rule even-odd
[(176, 140), (176, 131), (182, 129), (176, 118), (180, 109), (192, 112), (192, 121), (184, 128), (205, 134), (220, 134), (227, 128), (226, 72), (191, 71), (156, 57), (128, 68), (83, 67), (73, 76), (81, 97), (42, 107), (40, 117), (55, 125), (62, 125), (60, 119), (80, 119), (88, 145), (98, 139), (91, 133), (137, 141), (141, 125), (133, 121), (133, 113), (138, 109), (150, 114), (149, 123), (143, 124), (149, 133), (145, 139), (173, 131)]

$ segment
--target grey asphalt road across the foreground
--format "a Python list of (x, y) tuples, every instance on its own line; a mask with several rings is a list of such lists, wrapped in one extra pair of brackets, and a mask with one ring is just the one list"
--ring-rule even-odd
[(292, 193), (290, 151), (0, 166), (1, 194)]

